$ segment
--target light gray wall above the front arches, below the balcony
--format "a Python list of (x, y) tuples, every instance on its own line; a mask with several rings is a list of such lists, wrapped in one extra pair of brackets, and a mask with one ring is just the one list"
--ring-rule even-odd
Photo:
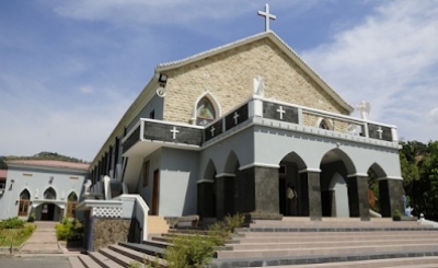
[(254, 128), (256, 163), (278, 164), (288, 153), (296, 152), (304, 161), (308, 168), (320, 168), (324, 154), (335, 149), (350, 159), (353, 163), (348, 171), (350, 174), (366, 174), (369, 167), (377, 163), (383, 168), (387, 176), (401, 178), (397, 149), (382, 149), (372, 144), (315, 137), (309, 133), (290, 132), (263, 126)]

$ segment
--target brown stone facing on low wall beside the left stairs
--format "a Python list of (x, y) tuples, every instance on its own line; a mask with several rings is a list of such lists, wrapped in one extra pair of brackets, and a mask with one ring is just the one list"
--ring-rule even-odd
[(93, 221), (92, 252), (128, 241), (130, 219), (93, 218)]

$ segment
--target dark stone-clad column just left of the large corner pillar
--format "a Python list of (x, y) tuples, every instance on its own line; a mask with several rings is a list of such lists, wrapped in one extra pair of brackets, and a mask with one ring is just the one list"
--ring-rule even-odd
[(223, 220), (234, 212), (234, 174), (218, 174), (216, 176), (216, 217)]

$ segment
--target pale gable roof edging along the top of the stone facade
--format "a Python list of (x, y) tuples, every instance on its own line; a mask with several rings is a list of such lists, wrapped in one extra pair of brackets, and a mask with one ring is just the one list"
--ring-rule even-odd
[(308, 74), (310, 78), (313, 79), (330, 96), (332, 96), (339, 105), (341, 107), (345, 108), (349, 113), (354, 110), (354, 107), (349, 105), (344, 98), (342, 98), (315, 71), (313, 71), (298, 55), (291, 47), (289, 47), (277, 34), (275, 34), (273, 31), (255, 34), (253, 36), (229, 43), (227, 45), (212, 48), (209, 50), (206, 50), (204, 53), (195, 54), (193, 56), (189, 56), (187, 58), (181, 59), (181, 60), (175, 60), (175, 61), (170, 61), (165, 63), (161, 63), (155, 68), (155, 73), (160, 72), (165, 72), (169, 70), (173, 70), (186, 65), (189, 65), (192, 62), (196, 62), (198, 60), (205, 59), (207, 57), (211, 57), (215, 55), (218, 55), (220, 53), (231, 50), (233, 48), (263, 39), (263, 38), (268, 38), (270, 39), (275, 45), (277, 45), (295, 63), (297, 63), (306, 74)]

